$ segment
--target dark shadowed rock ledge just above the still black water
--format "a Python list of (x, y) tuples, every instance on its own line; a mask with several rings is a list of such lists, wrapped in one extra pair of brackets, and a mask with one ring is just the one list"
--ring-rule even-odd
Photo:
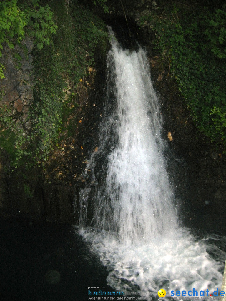
[[(8, 156), (2, 151), (0, 166), (7, 166)], [(49, 222), (76, 223), (74, 188), (45, 183), (41, 171), (9, 173), (0, 170), (0, 216), (45, 219)]]

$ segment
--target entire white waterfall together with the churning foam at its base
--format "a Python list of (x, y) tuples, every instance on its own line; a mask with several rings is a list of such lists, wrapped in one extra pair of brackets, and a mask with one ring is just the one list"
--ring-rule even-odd
[[(220, 288), (222, 264), (209, 256), (204, 241), (177, 225), (145, 52), (140, 46), (122, 49), (109, 32), (108, 115), (86, 169), (94, 184), (80, 193), (80, 233), (111, 271), (107, 280), (116, 290)], [(93, 228), (86, 227), (87, 220)]]

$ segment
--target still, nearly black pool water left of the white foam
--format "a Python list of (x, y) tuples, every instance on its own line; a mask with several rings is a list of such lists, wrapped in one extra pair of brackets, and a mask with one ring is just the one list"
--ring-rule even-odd
[[(108, 273), (74, 228), (48, 222), (0, 221), (0, 300), (88, 300), (88, 286), (107, 287)], [(49, 270), (61, 279), (50, 284)]]

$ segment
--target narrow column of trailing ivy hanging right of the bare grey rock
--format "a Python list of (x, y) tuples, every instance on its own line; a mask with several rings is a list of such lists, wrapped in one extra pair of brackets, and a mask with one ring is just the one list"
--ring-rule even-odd
[(17, 128), (17, 160), (28, 156), (36, 162), (46, 161), (61, 130), (64, 81), (54, 48), (36, 51), (34, 102), (28, 112), (29, 132)]

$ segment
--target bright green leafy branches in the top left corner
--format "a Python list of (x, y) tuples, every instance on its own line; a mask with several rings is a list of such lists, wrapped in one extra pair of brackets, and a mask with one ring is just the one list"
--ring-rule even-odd
[[(49, 45), (52, 33), (57, 26), (52, 20), (52, 11), (48, 5), (42, 7), (39, 0), (17, 1), (5, 0), (0, 2), (0, 57), (3, 43), (10, 49), (24, 38), (25, 34), (33, 38), (38, 49)], [(0, 77), (4, 78), (4, 66), (0, 65)]]

